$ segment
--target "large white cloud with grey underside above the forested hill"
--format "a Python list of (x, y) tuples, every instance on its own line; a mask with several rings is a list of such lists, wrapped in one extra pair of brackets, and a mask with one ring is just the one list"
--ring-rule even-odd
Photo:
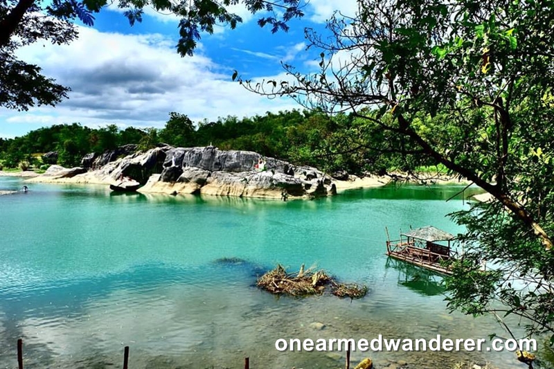
[(122, 35), (80, 28), (69, 45), (33, 44), (19, 50), (26, 62), (71, 87), (57, 107), (26, 113), (0, 111), (6, 123), (51, 125), (80, 122), (122, 127), (161, 127), (170, 111), (198, 121), (219, 116), (253, 116), (298, 107), (292, 100), (268, 100), (231, 82), (232, 69), (197, 53), (179, 57), (162, 35)]

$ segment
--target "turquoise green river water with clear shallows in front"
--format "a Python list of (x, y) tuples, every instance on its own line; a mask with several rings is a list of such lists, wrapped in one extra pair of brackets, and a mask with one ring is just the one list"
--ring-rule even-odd
[[(0, 177), (0, 189), (21, 188)], [(316, 201), (114, 195), (104, 187), (33, 185), (0, 197), (0, 368), (335, 368), (321, 352), (278, 352), (279, 338), (487, 338), (491, 319), (447, 314), (438, 281), (387, 260), (384, 241), (409, 226), (452, 233), (463, 187), (355, 190)], [(465, 195), (468, 191), (465, 191)], [(244, 263), (217, 263), (241, 258)], [(281, 263), (318, 265), (368, 285), (362, 300), (275, 298), (253, 284)], [(321, 322), (316, 331), (310, 323)], [(355, 352), (377, 363), (447, 368), (513, 354)], [(341, 359), (343, 360), (343, 359)], [(386, 366), (386, 365), (382, 365)]]

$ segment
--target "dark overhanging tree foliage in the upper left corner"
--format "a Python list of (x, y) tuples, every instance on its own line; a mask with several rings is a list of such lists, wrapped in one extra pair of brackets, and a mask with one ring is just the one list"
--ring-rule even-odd
[[(272, 32), (287, 30), (287, 21), (303, 15), (300, 0), (122, 0), (118, 6), (125, 9), (131, 25), (142, 21), (146, 7), (181, 17), (177, 52), (184, 56), (193, 55), (201, 32), (213, 33), (216, 24), (235, 28), (242, 19), (229, 12), (228, 7), (238, 3), (253, 13), (270, 12), (272, 15), (262, 17), (258, 24), (271, 25)], [(80, 19), (93, 26), (93, 12), (107, 5), (107, 0), (0, 1), (0, 107), (28, 110), (35, 105), (55, 105), (67, 98), (68, 87), (42, 75), (39, 66), (18, 60), (15, 51), (40, 39), (68, 44), (77, 37), (73, 21)]]

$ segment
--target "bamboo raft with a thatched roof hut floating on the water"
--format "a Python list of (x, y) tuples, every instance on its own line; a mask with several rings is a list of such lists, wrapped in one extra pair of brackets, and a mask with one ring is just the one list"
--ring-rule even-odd
[(391, 241), (386, 230), (386, 254), (436, 273), (452, 274), (446, 265), (448, 260), (458, 258), (458, 251), (451, 249), (454, 235), (434, 226), (413, 229), (400, 234), (400, 240)]

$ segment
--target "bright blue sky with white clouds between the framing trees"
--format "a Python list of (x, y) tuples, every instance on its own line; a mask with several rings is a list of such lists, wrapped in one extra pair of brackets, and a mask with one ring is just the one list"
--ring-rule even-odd
[(292, 100), (246, 91), (231, 81), (233, 70), (245, 79), (283, 79), (281, 62), (314, 70), (319, 51), (305, 51), (304, 28), (323, 30), (334, 10), (352, 15), (355, 8), (355, 0), (311, 0), (305, 17), (292, 21), (288, 33), (271, 34), (256, 24), (262, 15), (235, 6), (244, 19), (238, 28), (217, 27), (213, 35), (202, 35), (195, 56), (180, 57), (177, 18), (148, 9), (143, 22), (131, 27), (112, 6), (96, 15), (93, 27), (79, 26), (79, 38), (69, 45), (39, 42), (18, 51), (22, 60), (42, 66), (45, 75), (72, 91), (56, 107), (0, 108), (0, 137), (74, 122), (163, 127), (170, 111), (199, 122), (301, 109)]

